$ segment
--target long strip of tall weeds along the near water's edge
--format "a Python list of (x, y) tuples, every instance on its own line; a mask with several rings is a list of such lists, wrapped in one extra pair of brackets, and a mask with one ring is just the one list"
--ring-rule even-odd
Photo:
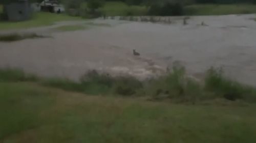
[(18, 81), (33, 81), (46, 87), (91, 95), (151, 96), (154, 101), (197, 103), (225, 99), (256, 102), (254, 87), (233, 81), (216, 68), (207, 71), (203, 83), (185, 76), (184, 68), (174, 68), (166, 75), (144, 81), (132, 76), (111, 76), (91, 70), (79, 82), (64, 78), (39, 78), (17, 69), (0, 70), (0, 82)]

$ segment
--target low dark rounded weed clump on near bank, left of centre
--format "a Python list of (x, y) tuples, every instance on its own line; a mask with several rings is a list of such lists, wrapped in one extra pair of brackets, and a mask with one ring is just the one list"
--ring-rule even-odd
[(132, 76), (111, 76), (98, 73), (96, 70), (87, 72), (81, 78), (81, 84), (90, 94), (115, 94), (130, 96), (142, 88), (142, 83)]

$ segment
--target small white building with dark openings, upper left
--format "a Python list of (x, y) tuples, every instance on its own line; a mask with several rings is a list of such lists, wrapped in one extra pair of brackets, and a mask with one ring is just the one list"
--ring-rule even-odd
[(44, 0), (40, 4), (41, 11), (51, 13), (62, 13), (65, 12), (63, 5), (60, 5), (56, 0)]

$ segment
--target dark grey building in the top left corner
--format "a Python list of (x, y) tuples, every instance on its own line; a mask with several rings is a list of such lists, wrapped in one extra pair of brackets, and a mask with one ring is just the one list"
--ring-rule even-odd
[(4, 17), (9, 21), (23, 21), (32, 17), (32, 9), (28, 0), (12, 1), (4, 5)]

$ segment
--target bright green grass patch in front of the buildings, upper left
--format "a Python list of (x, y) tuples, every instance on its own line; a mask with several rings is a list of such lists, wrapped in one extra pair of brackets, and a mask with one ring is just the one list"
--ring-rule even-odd
[(31, 20), (20, 22), (2, 22), (0, 21), (0, 30), (12, 30), (20, 28), (31, 28), (38, 26), (52, 25), (59, 21), (82, 20), (80, 17), (72, 17), (65, 14), (54, 14), (47, 12), (35, 13)]

